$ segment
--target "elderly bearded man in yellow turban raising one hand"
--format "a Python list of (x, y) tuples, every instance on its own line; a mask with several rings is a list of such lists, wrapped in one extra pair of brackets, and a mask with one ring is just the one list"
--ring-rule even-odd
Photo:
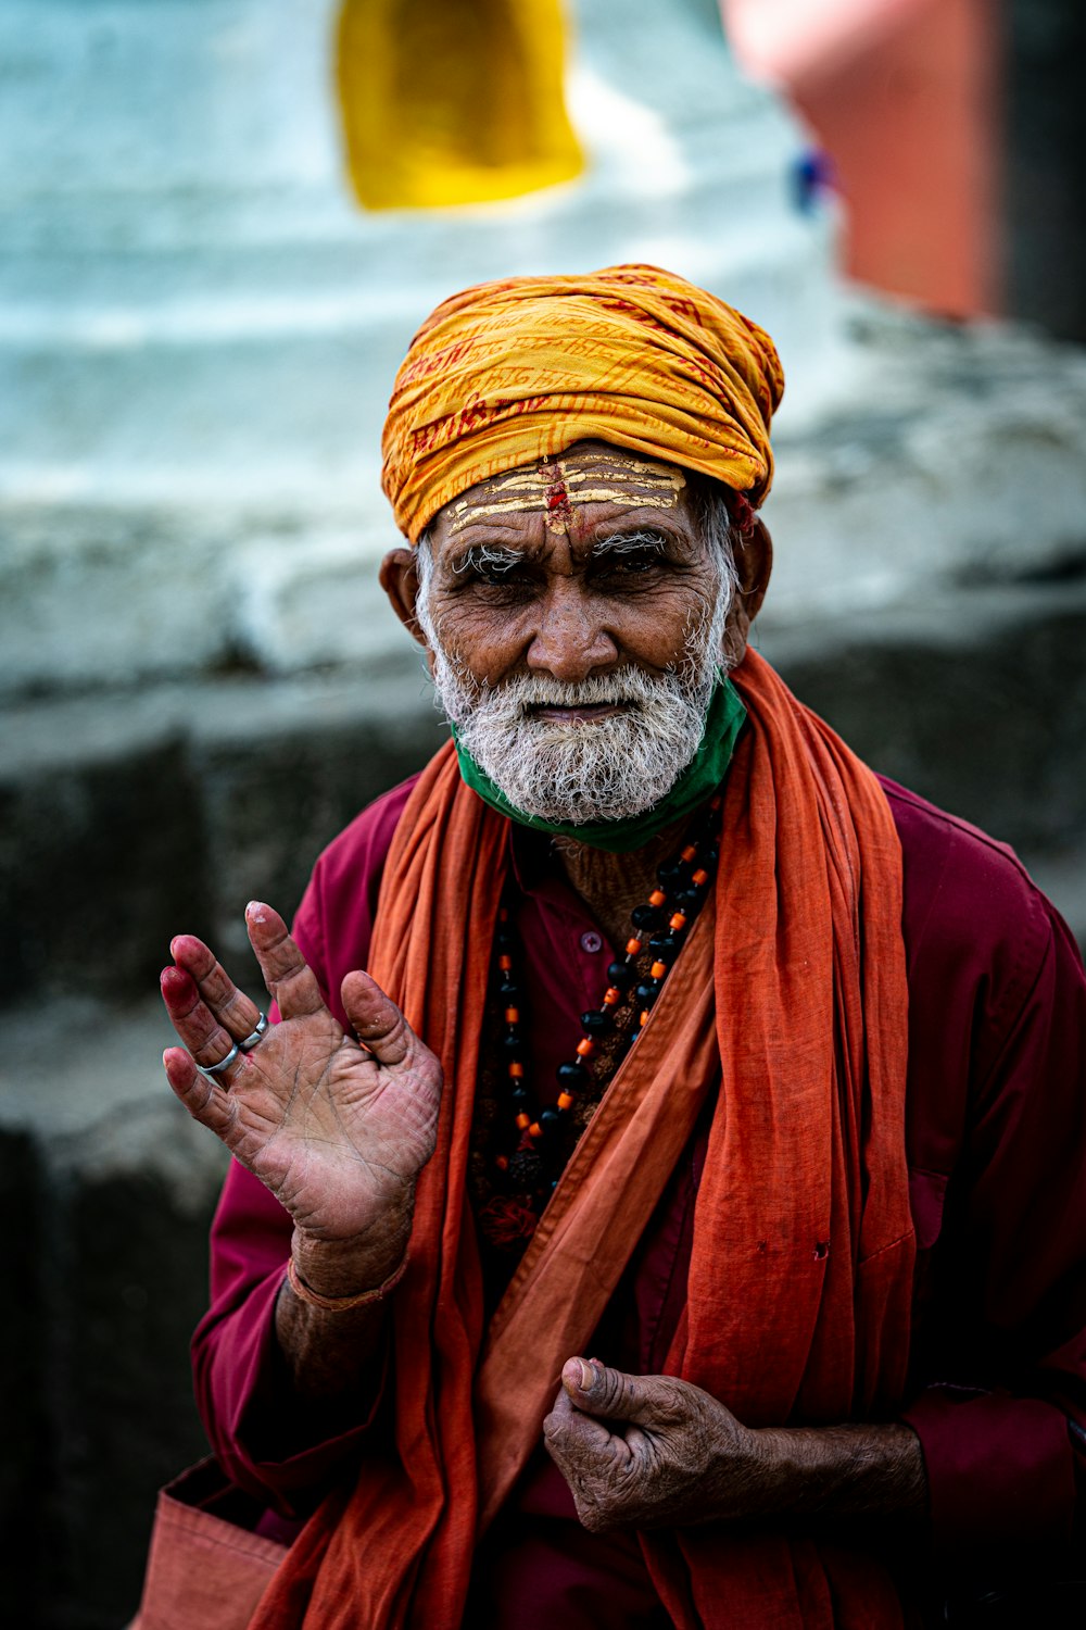
[(236, 1157), (202, 1408), (306, 1519), (264, 1630), (891, 1627), (1063, 1566), (1086, 981), (747, 650), (780, 391), (651, 267), (467, 290), (401, 368), (381, 580), (453, 742), (293, 937), (249, 906), (275, 1025), (163, 973)]

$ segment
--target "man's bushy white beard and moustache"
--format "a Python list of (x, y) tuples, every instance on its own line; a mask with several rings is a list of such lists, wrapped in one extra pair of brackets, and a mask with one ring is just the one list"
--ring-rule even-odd
[[(443, 650), (425, 613), (420, 623), (435, 652), (436, 699), (480, 769), (524, 815), (585, 825), (643, 815), (697, 753), (723, 668), (728, 600), (721, 584), (712, 618), (689, 631), (676, 668), (655, 676), (624, 667), (580, 683), (528, 673), (480, 685)], [(532, 712), (539, 704), (599, 703), (624, 711), (568, 722)]]

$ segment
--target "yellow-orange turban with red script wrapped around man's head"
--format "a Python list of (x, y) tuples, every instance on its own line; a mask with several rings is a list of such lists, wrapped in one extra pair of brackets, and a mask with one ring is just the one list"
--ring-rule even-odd
[(698, 469), (757, 509), (783, 388), (769, 334), (659, 267), (479, 284), (410, 342), (383, 486), (417, 541), (477, 481), (594, 438)]

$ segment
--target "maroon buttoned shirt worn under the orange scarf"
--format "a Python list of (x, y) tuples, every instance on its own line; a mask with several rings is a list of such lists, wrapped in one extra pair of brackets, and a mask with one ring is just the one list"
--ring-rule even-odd
[[(365, 967), (381, 867), (412, 782), (365, 810), (317, 861), (298, 944), (345, 1024), (339, 988)], [(917, 1224), (910, 1390), (923, 1446), (930, 1560), (966, 1575), (1060, 1568), (1086, 1487), (1086, 976), (1066, 926), (1003, 844), (882, 782), (904, 851), (909, 967), (907, 1157)], [(573, 1055), (612, 949), (518, 830), (534, 1079)], [(726, 839), (723, 862), (726, 864)], [(685, 1296), (698, 1130), (593, 1341), (620, 1369), (663, 1368)], [(291, 1224), (233, 1165), (212, 1237), (212, 1309), (194, 1338), (197, 1397), (228, 1475), (291, 1532), (365, 1452), (378, 1402), (317, 1418), (293, 1405), (274, 1338)], [(1083, 1503), (1086, 1504), (1086, 1503)], [(912, 1566), (923, 1560), (912, 1555)], [(915, 1583), (915, 1578), (913, 1578)], [(637, 1544), (589, 1535), (542, 1447), (480, 1552), (472, 1625), (666, 1625)]]

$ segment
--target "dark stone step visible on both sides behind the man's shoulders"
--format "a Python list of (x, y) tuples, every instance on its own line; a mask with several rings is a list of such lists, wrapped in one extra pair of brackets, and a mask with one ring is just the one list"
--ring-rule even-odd
[[(759, 642), (868, 763), (1052, 866), (1079, 910), (1065, 857), (1086, 833), (1086, 577), (944, 587)], [(441, 735), (407, 652), (381, 680), (236, 676), (10, 709), (7, 999), (134, 999), (182, 929), (244, 957), (246, 900), (293, 910), (322, 844)]]

